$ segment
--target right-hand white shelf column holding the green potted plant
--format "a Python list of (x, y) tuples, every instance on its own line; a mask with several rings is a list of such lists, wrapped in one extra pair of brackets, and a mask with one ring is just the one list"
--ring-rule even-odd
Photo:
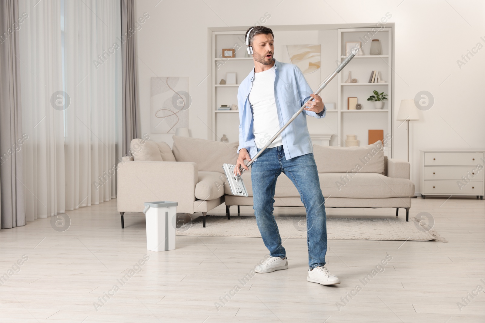
[[(382, 55), (357, 55), (340, 72), (338, 78), (337, 95), (337, 133), (338, 146), (345, 146), (347, 135), (356, 135), (359, 146), (366, 146), (369, 143), (369, 130), (384, 130), (384, 138), (389, 134), (393, 137), (392, 129), (392, 29), (383, 28), (375, 32), (375, 28), (345, 28), (338, 30), (338, 59), (343, 61), (346, 42), (361, 42), (364, 54), (369, 54), (372, 39), (379, 39), (382, 47)], [(373, 34), (374, 33), (374, 34)], [(373, 35), (372, 35), (373, 34)], [(380, 72), (385, 83), (369, 83), (371, 72)], [(348, 78), (349, 71), (357, 83), (344, 83)], [(384, 102), (383, 109), (375, 109), (372, 101), (367, 98), (373, 95), (372, 91), (388, 94), (388, 100)], [(357, 103), (362, 105), (361, 110), (348, 110), (347, 97), (357, 97)], [(372, 113), (367, 113), (372, 112)], [(392, 156), (392, 140), (388, 140), (384, 147), (384, 154)]]

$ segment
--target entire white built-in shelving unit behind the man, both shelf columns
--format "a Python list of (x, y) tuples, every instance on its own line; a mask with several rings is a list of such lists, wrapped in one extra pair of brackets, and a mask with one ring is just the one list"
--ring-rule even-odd
[[(276, 28), (273, 28), (275, 39), (277, 38), (279, 42), (277, 46), (275, 44), (276, 59), (280, 61), (282, 51), (285, 50), (285, 44), (322, 44), (321, 80), (327, 76), (327, 72), (331, 68), (335, 68), (329, 64), (331, 57), (337, 56), (337, 61), (341, 61), (346, 57), (344, 55), (345, 42), (362, 42), (362, 39), (367, 39), (365, 43), (362, 42), (365, 54), (369, 54), (372, 39), (379, 39), (381, 42), (383, 55), (356, 56), (332, 81), (334, 85), (325, 89), (324, 100), (336, 102), (336, 107), (333, 110), (327, 110), (327, 118), (324, 118), (323, 121), (308, 119), (310, 134), (315, 136), (333, 133), (330, 141), (330, 144), (333, 146), (345, 146), (345, 138), (348, 134), (357, 135), (359, 145), (366, 146), (368, 144), (369, 129), (383, 129), (384, 138), (386, 138), (386, 134), (391, 134), (393, 137), (392, 28), (385, 27), (375, 33), (372, 38), (365, 38), (369, 32), (375, 32), (375, 28), (338, 29), (338, 27), (344, 26), (327, 28), (323, 25), (318, 25), (312, 26), (311, 29), (305, 26), (294, 26), (292, 31), (278, 31)], [(301, 32), (301, 36), (299, 32)], [(246, 50), (244, 34), (245, 30), (211, 31), (211, 86), (209, 89), (211, 97), (209, 109), (212, 122), (208, 126), (212, 140), (220, 140), (223, 134), (227, 136), (230, 142), (237, 141), (239, 138), (239, 111), (218, 111), (217, 107), (238, 104), (237, 93), (239, 84), (254, 67), (252, 57), (244, 57)], [(330, 51), (328, 50), (329, 46), (332, 48)], [(222, 58), (223, 48), (236, 48), (236, 57)], [(329, 57), (329, 54), (332, 56)], [(334, 59), (331, 60), (333, 61)], [(373, 70), (380, 71), (382, 79), (386, 82), (368, 83), (369, 75)], [(352, 77), (357, 78), (358, 83), (344, 83), (349, 71), (352, 71)], [(237, 73), (237, 84), (219, 84), (221, 78), (226, 79), (226, 73), (228, 72)], [(315, 85), (312, 86), (315, 87)], [(388, 100), (385, 101), (384, 109), (374, 109), (373, 102), (367, 101), (373, 90), (388, 94)], [(363, 109), (347, 110), (347, 97), (357, 97), (358, 103), (362, 104)], [(385, 145), (385, 154), (388, 157), (392, 157), (392, 140), (389, 140)]]

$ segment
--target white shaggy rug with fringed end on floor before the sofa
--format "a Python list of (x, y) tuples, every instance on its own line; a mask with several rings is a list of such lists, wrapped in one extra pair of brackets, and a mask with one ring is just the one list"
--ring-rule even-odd
[[(276, 216), (276, 223), (282, 238), (307, 238), (305, 217)], [(423, 221), (410, 218), (409, 222), (388, 218), (332, 218), (327, 217), (327, 238), (343, 240), (409, 240), (447, 242), (433, 228)], [(202, 216), (177, 229), (177, 235), (217, 237), (261, 237), (254, 216), (210, 215), (206, 227), (202, 227)]]

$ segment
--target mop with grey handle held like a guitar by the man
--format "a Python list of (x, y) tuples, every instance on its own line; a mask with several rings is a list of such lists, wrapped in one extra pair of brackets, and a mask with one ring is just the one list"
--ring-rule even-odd
[[(348, 64), (348, 62), (350, 62), (354, 56), (356, 56), (357, 54), (357, 51), (359, 50), (358, 47), (355, 47), (352, 49), (352, 52), (349, 54), (349, 56), (347, 56), (345, 58), (345, 60), (343, 62), (340, 63), (340, 65), (337, 67), (337, 69), (332, 73), (330, 74), (324, 81), (323, 83), (320, 85), (320, 87), (318, 88), (317, 91), (315, 91), (313, 94), (318, 94), (320, 93), (320, 91), (323, 90), (323, 88), (325, 86), (327, 86), (328, 83), (330, 83), (330, 81), (332, 80), (332, 78), (334, 78), (337, 74), (339, 74), (339, 72), (345, 67), (345, 65)], [(306, 104), (310, 101), (312, 101), (313, 98), (310, 98), (298, 111), (295, 112), (295, 114), (293, 114), (293, 116), (291, 117), (291, 119), (285, 123), (285, 125), (283, 125), (279, 131), (275, 134), (275, 136), (273, 136), (273, 138), (271, 138), (268, 143), (259, 151), (258, 154), (256, 154), (256, 156), (254, 156), (254, 158), (251, 158), (251, 161), (249, 163), (247, 163), (247, 167), (249, 168), (249, 166), (251, 166), (251, 164), (256, 161), (256, 159), (259, 157), (260, 154), (262, 154), (266, 148), (268, 148), (269, 145), (271, 145), (273, 143), (273, 141), (283, 132), (283, 130), (285, 130), (285, 128), (293, 121), (296, 119), (296, 117), (302, 112), (304, 111), (304, 108), (306, 107)], [(247, 197), (248, 194), (247, 194), (247, 190), (246, 190), (246, 186), (244, 185), (244, 182), (242, 182), (242, 178), (239, 174), (234, 174), (234, 169), (236, 168), (236, 165), (231, 165), (231, 164), (224, 164), (222, 165), (222, 168), (224, 169), (224, 172), (226, 173), (226, 177), (227, 177), (227, 183), (229, 183), (229, 187), (231, 188), (231, 193), (232, 195), (236, 195), (236, 196), (244, 196), (244, 197)], [(246, 169), (240, 169), (241, 170), (241, 175), (242, 173), (244, 172), (244, 170)]]

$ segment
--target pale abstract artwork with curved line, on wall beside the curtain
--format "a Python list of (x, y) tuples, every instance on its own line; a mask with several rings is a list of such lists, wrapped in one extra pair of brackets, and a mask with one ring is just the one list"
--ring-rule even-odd
[(152, 77), (150, 83), (151, 132), (175, 134), (177, 128), (188, 127), (189, 77)]

